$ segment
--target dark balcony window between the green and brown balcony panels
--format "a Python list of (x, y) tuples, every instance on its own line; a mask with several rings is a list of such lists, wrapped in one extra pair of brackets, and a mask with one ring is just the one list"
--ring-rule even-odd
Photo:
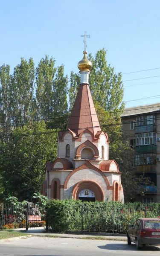
[(156, 154), (136, 154), (136, 165), (156, 164)]

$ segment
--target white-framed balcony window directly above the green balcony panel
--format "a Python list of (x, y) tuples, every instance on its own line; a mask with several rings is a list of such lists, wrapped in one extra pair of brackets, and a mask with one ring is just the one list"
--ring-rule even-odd
[(149, 145), (149, 144), (156, 144), (156, 133), (155, 132), (136, 134), (136, 146), (137, 145)]

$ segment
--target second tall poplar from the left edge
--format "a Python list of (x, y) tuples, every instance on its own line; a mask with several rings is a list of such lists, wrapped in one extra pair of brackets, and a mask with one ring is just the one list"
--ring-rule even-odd
[(31, 117), (32, 97), (34, 91), (35, 68), (32, 58), (21, 62), (11, 76), (11, 106), (14, 127), (19, 127)]

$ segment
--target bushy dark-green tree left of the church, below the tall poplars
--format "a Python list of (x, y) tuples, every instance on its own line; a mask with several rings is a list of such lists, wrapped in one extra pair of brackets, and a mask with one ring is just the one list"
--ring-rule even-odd
[(12, 195), (31, 201), (40, 192), (48, 160), (57, 155), (57, 132), (48, 130), (44, 121), (15, 128), (9, 143), (0, 148), (1, 197)]

